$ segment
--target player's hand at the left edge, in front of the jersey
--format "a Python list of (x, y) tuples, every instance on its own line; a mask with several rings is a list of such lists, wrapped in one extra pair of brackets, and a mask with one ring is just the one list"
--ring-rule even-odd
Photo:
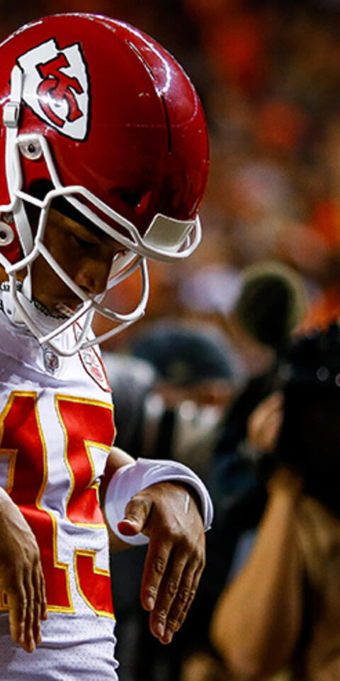
[(45, 580), (35, 536), (18, 506), (0, 489), (0, 587), (6, 593), (11, 637), (28, 653), (41, 642), (47, 619)]

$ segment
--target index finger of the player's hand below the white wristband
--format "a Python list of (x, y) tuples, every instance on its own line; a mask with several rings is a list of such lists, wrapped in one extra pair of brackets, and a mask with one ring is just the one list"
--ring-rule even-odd
[(171, 543), (159, 544), (150, 541), (140, 589), (140, 598), (145, 610), (152, 611), (154, 609), (170, 553)]

